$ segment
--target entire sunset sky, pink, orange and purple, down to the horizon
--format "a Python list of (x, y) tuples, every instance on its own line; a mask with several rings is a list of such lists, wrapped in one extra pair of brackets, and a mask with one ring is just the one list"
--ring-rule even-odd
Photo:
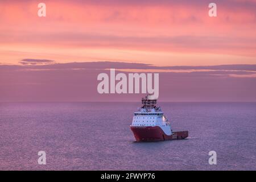
[(162, 100), (256, 101), (255, 0), (40, 2), (0, 1), (0, 101), (130, 100), (98, 96), (110, 68), (159, 72)]

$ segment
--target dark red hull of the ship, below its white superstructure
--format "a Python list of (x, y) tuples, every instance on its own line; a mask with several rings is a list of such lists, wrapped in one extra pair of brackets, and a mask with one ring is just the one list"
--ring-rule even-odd
[(172, 132), (172, 135), (166, 135), (159, 126), (131, 126), (131, 131), (133, 131), (137, 142), (177, 140), (185, 139), (188, 137), (188, 131), (176, 131)]

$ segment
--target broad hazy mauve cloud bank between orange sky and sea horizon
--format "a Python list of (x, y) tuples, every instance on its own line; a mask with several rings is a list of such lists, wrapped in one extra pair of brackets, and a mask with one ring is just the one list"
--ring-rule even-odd
[(109, 74), (110, 68), (126, 74), (158, 72), (163, 101), (256, 101), (256, 65), (157, 67), (108, 61), (0, 65), (0, 101), (139, 100), (141, 94), (98, 94), (97, 75)]

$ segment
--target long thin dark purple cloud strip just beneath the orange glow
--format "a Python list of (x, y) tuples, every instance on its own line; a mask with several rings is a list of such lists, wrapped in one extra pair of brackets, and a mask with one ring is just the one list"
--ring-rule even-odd
[(93, 62), (70, 62), (56, 63), (54, 60), (38, 60), (38, 59), (23, 59), (20, 60), (22, 65), (2, 65), (1, 68), (12, 69), (111, 69), (115, 68), (122, 71), (158, 71), (158, 72), (237, 72), (238, 74), (256, 72), (256, 64), (233, 64), (233, 65), (201, 65), (201, 66), (157, 66), (143, 63), (124, 63), (116, 61), (93, 61)]

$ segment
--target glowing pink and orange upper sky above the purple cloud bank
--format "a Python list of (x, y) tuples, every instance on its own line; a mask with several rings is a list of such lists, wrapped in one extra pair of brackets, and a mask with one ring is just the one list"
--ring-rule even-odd
[(256, 63), (256, 1), (0, 2), (0, 63), (22, 59), (155, 65)]

